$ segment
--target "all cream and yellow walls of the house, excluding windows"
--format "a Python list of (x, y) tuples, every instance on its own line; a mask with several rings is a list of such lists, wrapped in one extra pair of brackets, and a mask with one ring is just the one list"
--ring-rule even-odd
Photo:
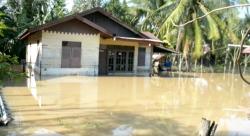
[[(39, 43), (37, 43), (39, 41)], [(61, 68), (62, 41), (81, 42), (81, 68)], [(134, 71), (131, 74), (148, 75), (152, 47), (138, 42), (102, 39), (99, 34), (62, 33), (42, 31), (28, 38), (26, 62), (42, 75), (98, 75), (99, 45), (134, 46)], [(138, 66), (138, 48), (146, 48), (145, 66)], [(39, 55), (38, 55), (39, 54)], [(39, 62), (37, 62), (39, 61)], [(40, 70), (40, 62), (42, 69)]]

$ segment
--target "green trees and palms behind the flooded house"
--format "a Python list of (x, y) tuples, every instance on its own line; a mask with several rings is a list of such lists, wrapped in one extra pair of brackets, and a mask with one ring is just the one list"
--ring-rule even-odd
[(9, 55), (7, 58), (18, 56), (20, 61), (25, 58), (25, 46), (18, 35), (27, 28), (103, 7), (135, 29), (156, 34), (167, 47), (181, 53), (173, 61), (181, 60), (182, 65), (184, 60), (187, 70), (199, 62), (208, 66), (236, 63), (237, 50), (226, 48), (229, 43), (240, 43), (250, 24), (249, 9), (245, 13), (236, 8), (222, 10), (183, 24), (213, 9), (243, 3), (249, 0), (74, 0), (69, 11), (65, 0), (7, 0), (0, 7), (0, 52)]

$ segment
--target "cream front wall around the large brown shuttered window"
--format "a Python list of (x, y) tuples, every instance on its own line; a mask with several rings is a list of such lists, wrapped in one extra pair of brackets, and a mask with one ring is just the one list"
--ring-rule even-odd
[[(97, 75), (99, 34), (43, 31), (42, 75)], [(81, 42), (81, 68), (61, 68), (62, 41)]]

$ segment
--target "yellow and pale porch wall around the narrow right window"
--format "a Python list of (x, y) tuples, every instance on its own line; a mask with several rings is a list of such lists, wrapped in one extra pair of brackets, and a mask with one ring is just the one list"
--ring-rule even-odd
[[(134, 46), (134, 72), (136, 75), (148, 75), (151, 69), (151, 61), (152, 61), (152, 46), (143, 45), (138, 42), (131, 41), (122, 41), (122, 40), (113, 40), (113, 39), (101, 39), (100, 43), (102, 45), (122, 45), (122, 46)], [(144, 47), (146, 48), (145, 54), (145, 66), (138, 66), (138, 48)], [(121, 74), (121, 73), (118, 73)]]

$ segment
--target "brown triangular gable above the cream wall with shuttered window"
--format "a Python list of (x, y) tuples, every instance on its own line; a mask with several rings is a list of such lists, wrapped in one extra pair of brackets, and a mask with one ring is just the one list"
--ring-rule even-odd
[(67, 33), (83, 33), (83, 34), (98, 34), (98, 31), (87, 24), (82, 23), (77, 19), (69, 20), (45, 30), (67, 32)]

